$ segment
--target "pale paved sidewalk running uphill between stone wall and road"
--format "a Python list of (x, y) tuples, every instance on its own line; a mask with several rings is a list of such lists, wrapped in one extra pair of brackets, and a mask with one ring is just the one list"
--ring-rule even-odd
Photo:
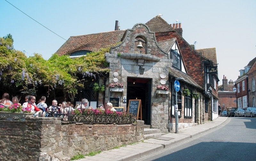
[(164, 148), (169, 148), (183, 143), (192, 138), (196, 138), (212, 129), (220, 127), (227, 120), (228, 117), (218, 117), (213, 121), (207, 121), (201, 125), (179, 129), (177, 134), (175, 132), (170, 132), (156, 138), (147, 139), (118, 149), (102, 151), (100, 154), (92, 157), (86, 156), (85, 158), (77, 161), (130, 161), (135, 158), (164, 150)]

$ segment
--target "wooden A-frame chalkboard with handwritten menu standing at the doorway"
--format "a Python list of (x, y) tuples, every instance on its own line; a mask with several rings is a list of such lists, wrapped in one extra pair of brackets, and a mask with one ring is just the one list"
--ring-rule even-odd
[(137, 120), (142, 120), (142, 114), (141, 114), (141, 100), (140, 99), (130, 99), (128, 104), (127, 111), (129, 113), (134, 113), (135, 116), (137, 116)]

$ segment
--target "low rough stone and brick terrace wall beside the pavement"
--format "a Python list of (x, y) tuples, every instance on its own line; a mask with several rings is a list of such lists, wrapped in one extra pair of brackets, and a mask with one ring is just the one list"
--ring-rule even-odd
[(0, 120), (0, 160), (70, 160), (78, 152), (108, 150), (143, 140), (144, 121), (125, 124), (69, 124), (60, 118)]

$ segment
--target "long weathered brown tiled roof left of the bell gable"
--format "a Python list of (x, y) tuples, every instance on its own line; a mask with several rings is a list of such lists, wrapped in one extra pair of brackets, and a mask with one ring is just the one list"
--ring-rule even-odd
[(71, 36), (57, 51), (58, 55), (67, 55), (79, 50), (95, 51), (109, 48), (121, 41), (126, 30)]

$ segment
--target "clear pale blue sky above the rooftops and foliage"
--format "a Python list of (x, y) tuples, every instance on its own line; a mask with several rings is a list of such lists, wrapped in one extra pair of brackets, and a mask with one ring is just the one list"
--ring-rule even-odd
[(14, 48), (27, 56), (48, 60), (70, 36), (114, 31), (116, 20), (120, 30), (131, 29), (162, 14), (169, 24), (181, 23), (196, 49), (216, 48), (219, 85), (223, 75), (235, 81), (256, 57), (255, 0), (6, 1), (0, 0), (0, 37), (11, 33)]

